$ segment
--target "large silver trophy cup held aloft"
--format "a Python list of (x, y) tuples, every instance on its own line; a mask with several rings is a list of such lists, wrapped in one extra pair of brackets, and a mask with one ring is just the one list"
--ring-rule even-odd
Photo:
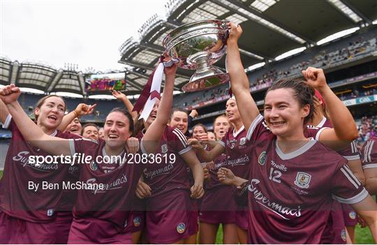
[(225, 21), (201, 20), (172, 30), (163, 39), (170, 57), (182, 61), (180, 67), (196, 70), (184, 91), (198, 91), (229, 82), (229, 74), (213, 67), (226, 53), (228, 27)]

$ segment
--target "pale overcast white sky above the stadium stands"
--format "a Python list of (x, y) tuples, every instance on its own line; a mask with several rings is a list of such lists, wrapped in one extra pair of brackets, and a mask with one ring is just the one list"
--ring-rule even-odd
[(79, 70), (123, 68), (118, 48), (165, 0), (0, 2), (0, 54), (12, 61), (40, 61)]

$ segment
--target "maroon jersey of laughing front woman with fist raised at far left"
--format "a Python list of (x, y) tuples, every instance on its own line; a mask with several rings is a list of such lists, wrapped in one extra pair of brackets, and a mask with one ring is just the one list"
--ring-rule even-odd
[[(120, 154), (118, 161), (102, 161), (103, 157), (108, 156), (103, 140), (71, 140), (70, 147), (72, 155), (81, 153), (93, 159), (90, 164), (80, 164), (80, 182), (92, 186), (77, 190), (73, 216), (108, 221), (114, 223), (117, 230), (123, 230), (127, 226), (136, 185), (141, 175), (141, 163), (129, 163), (124, 157), (126, 153)], [(102, 186), (99, 186), (100, 184)]]

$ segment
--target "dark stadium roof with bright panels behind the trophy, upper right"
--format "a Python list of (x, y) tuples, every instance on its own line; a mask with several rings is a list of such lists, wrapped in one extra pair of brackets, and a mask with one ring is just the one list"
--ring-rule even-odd
[[(241, 24), (244, 34), (239, 48), (245, 68), (269, 63), (280, 54), (309, 47), (331, 34), (364, 27), (377, 19), (377, 2), (369, 0), (170, 0), (166, 16), (152, 16), (139, 29), (139, 40), (129, 38), (119, 51), (119, 62), (152, 70), (163, 53), (163, 38), (172, 29), (205, 19)], [(224, 59), (215, 64), (225, 69)], [(175, 87), (193, 74), (179, 68)], [(147, 80), (135, 83), (144, 85)]]

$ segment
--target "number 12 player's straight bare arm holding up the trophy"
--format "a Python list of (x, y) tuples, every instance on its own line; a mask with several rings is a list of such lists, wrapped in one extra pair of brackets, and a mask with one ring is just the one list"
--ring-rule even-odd
[(230, 28), (229, 38), (227, 40), (226, 68), (230, 75), (230, 87), (239, 106), (239, 114), (246, 132), (249, 131), (251, 123), (259, 114), (256, 102), (251, 97), (249, 91), (249, 79), (244, 72), (241, 57), (239, 56), (239, 48), (237, 45), (238, 38), (242, 34), (242, 28), (234, 23), (228, 23)]

